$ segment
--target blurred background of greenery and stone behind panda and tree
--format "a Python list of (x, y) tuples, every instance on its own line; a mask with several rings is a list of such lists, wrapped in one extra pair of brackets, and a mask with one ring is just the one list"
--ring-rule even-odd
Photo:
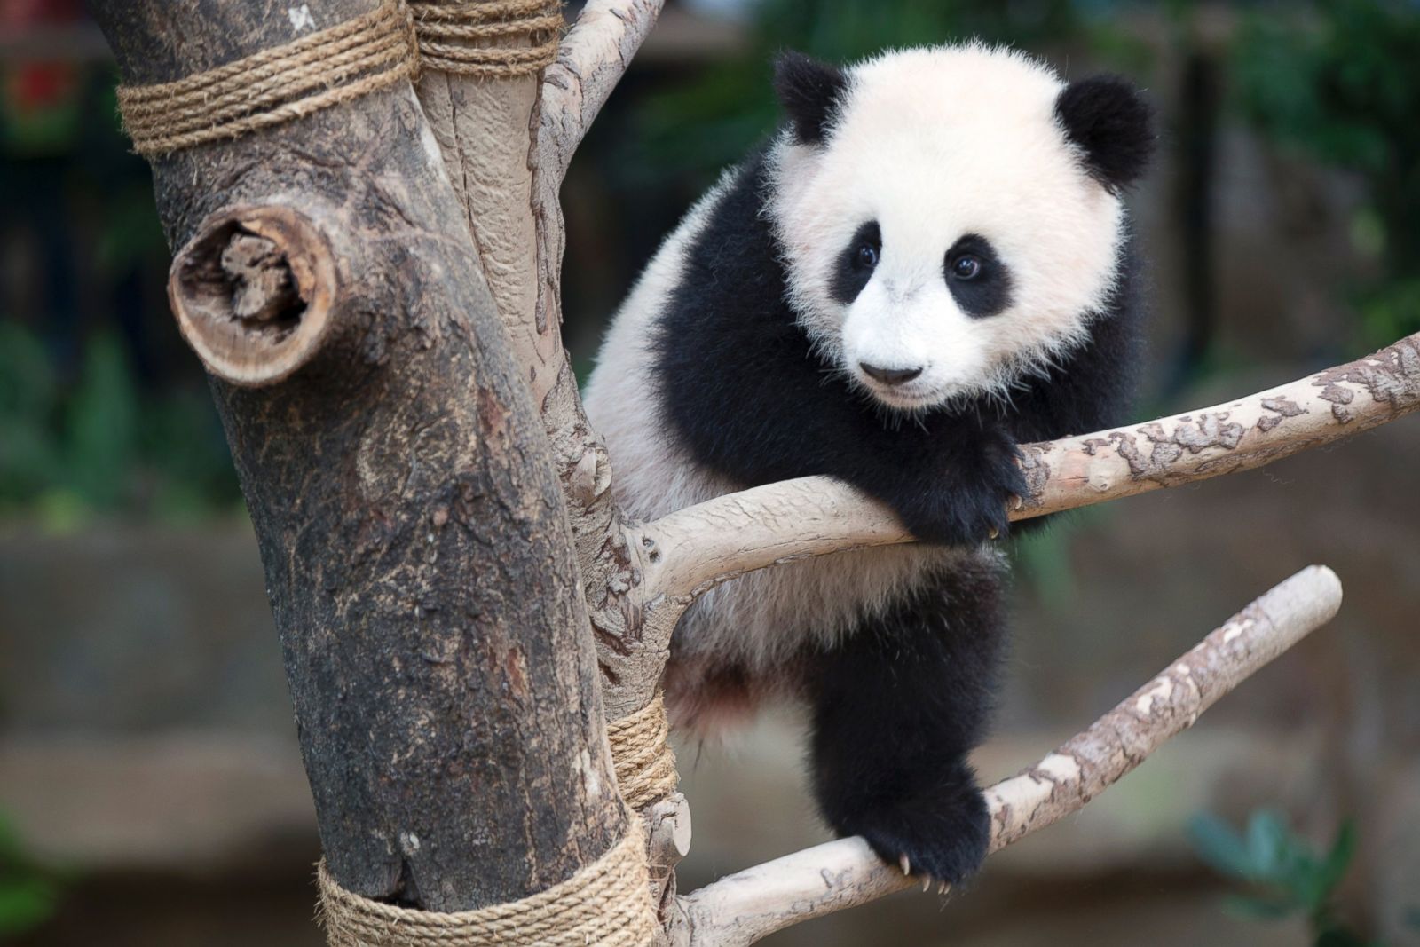
[[(564, 190), (581, 373), (660, 236), (772, 129), (772, 51), (973, 35), (1071, 77), (1126, 72), (1160, 109), (1162, 158), (1132, 199), (1156, 301), (1140, 417), (1420, 329), (1414, 0), (672, 0)], [(0, 0), (0, 940), (318, 944), (257, 551), (168, 314), (114, 81), (77, 0)], [(1420, 943), (1417, 469), (1411, 417), (1018, 548), (988, 779), (1302, 565), (1332, 565), (1348, 598), (971, 890), (770, 943)], [(784, 713), (734, 745), (682, 747), (684, 887), (824, 838), (797, 735)]]

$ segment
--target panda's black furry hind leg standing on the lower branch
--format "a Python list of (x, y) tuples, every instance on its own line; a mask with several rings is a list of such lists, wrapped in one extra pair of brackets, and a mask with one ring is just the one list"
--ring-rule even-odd
[(1003, 581), (994, 559), (951, 565), (808, 669), (824, 818), (913, 875), (957, 883), (985, 858), (990, 819), (967, 754), (1004, 650)]

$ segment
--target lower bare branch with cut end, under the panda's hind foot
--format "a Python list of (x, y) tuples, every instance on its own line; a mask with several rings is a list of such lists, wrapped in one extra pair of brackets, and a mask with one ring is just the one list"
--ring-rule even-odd
[[(1204, 710), (1325, 625), (1340, 581), (1308, 566), (1234, 615), (1149, 684), (1055, 752), (987, 789), (991, 850), (1076, 812)], [(720, 879), (679, 899), (672, 943), (740, 947), (791, 924), (910, 887), (861, 838), (828, 842)]]

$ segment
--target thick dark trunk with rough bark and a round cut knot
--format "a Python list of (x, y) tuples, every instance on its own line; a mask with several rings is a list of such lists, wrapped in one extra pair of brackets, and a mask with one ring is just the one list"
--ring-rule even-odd
[[(308, 4), (317, 28), (373, 6)], [(268, 4), (94, 7), (129, 84), (298, 30)], [(625, 825), (565, 504), (409, 84), (153, 173), (187, 335), (248, 371), (212, 386), (335, 880), (462, 910), (572, 875)]]

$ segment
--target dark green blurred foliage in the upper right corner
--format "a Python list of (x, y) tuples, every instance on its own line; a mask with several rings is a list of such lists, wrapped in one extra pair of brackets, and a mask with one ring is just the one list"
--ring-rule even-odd
[(1377, 273), (1353, 287), (1362, 341), (1420, 331), (1420, 6), (1315, 0), (1258, 11), (1235, 37), (1231, 68), (1258, 131), (1363, 185), (1352, 239)]

